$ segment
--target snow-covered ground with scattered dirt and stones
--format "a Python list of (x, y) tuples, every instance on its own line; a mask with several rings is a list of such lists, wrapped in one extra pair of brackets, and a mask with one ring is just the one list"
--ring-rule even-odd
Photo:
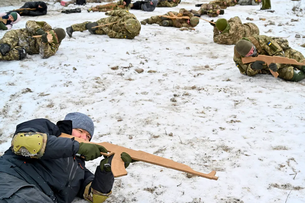
[[(258, 11), (259, 6), (229, 7), (219, 17), (239, 16), (244, 23), (254, 18), (260, 34), (285, 37), (304, 54), (304, 39), (292, 32), (305, 33), (304, 13), (298, 17), (292, 11), (300, 2), (273, 0), (274, 13)], [(131, 12), (143, 20), (197, 9), (195, 3), (200, 2)], [(13, 28), (24, 28), (27, 20), (66, 28), (105, 17), (87, 13), (89, 6), (81, 7), (82, 13), (61, 14), (59, 3), (49, 5), (48, 15), (24, 17)], [(304, 9), (304, 2), (299, 6)], [(0, 12), (13, 8), (0, 7)], [(275, 25), (265, 27), (269, 20)], [(219, 177), (187, 177), (137, 162), (130, 164), (128, 176), (115, 179), (108, 202), (282, 203), (289, 192), (287, 203), (305, 202), (305, 82), (244, 76), (232, 60), (233, 45), (215, 44), (213, 27), (205, 21), (195, 28), (142, 25), (133, 40), (75, 32), (48, 59), (28, 55), (22, 61), (1, 61), (0, 155), (10, 146), (16, 124), (33, 118), (56, 122), (78, 111), (93, 118), (94, 142), (143, 150), (203, 173), (216, 170)], [(94, 172), (99, 161), (87, 167)]]

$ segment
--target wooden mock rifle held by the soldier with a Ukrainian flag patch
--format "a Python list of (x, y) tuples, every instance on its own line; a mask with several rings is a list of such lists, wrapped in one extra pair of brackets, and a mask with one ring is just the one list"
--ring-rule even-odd
[[(254, 61), (264, 61), (265, 64), (263, 64), (263, 65), (267, 65), (267, 66), (269, 66), (270, 63), (283, 63), (283, 64), (293, 64), (293, 65), (305, 66), (305, 59), (303, 60), (303, 63), (301, 63), (301, 62), (297, 62), (295, 59), (280, 57), (280, 56), (258, 55), (257, 57), (248, 56), (248, 57), (242, 58), (243, 64), (251, 63)], [(274, 72), (272, 70), (270, 70), (270, 72), (273, 76), (275, 76), (275, 78), (277, 78), (279, 76), (279, 73), (277, 73), (277, 72)]]

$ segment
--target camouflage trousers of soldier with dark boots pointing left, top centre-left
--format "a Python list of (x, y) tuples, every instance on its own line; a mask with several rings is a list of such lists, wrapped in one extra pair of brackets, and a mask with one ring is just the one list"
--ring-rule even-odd
[[(118, 16), (110, 16), (110, 17), (107, 17), (107, 18), (101, 18), (100, 20), (96, 21), (98, 25), (102, 25), (102, 24), (107, 24), (107, 23), (112, 23), (112, 22), (116, 22), (118, 21)], [(73, 24), (71, 25), (73, 31), (85, 31), (85, 30), (88, 30), (87, 29), (87, 24), (88, 23), (91, 23), (90, 21), (86, 21), (86, 22), (83, 22), (83, 23), (79, 23), (79, 24)], [(109, 29), (112, 28), (112, 25), (108, 25), (107, 26)], [(96, 35), (107, 35), (107, 33), (101, 29), (101, 27), (98, 28), (98, 30), (95, 30), (94, 33)]]

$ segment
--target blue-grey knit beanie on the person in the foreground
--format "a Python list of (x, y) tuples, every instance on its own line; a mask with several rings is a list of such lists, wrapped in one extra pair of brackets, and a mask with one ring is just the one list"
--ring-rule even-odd
[(92, 139), (93, 133), (94, 133), (94, 124), (93, 124), (93, 121), (91, 120), (91, 118), (89, 118), (89, 116), (87, 116), (86, 114), (78, 113), (78, 112), (68, 113), (66, 115), (65, 119), (63, 119), (63, 120), (72, 121), (73, 129), (80, 128), (80, 129), (83, 129), (83, 130), (89, 132), (89, 134), (91, 135), (91, 139)]

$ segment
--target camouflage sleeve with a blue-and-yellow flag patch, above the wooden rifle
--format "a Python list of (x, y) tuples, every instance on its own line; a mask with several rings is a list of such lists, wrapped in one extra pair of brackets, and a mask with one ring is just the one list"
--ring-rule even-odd
[[(267, 52), (267, 55), (285, 57), (283, 49), (273, 39), (271, 39), (270, 37), (268, 37), (266, 35), (259, 35), (259, 36), (257, 36), (257, 38), (258, 38), (258, 41), (260, 42), (260, 47), (265, 52)], [(282, 64), (276, 63), (276, 66), (278, 68), (280, 68), (280, 67), (282, 67)]]

